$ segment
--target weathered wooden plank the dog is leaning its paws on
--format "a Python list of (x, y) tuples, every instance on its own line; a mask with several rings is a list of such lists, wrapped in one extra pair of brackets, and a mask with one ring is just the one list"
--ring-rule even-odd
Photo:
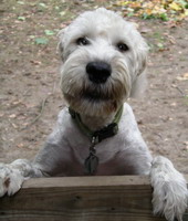
[(38, 178), (0, 199), (0, 221), (164, 221), (150, 201), (148, 177)]

